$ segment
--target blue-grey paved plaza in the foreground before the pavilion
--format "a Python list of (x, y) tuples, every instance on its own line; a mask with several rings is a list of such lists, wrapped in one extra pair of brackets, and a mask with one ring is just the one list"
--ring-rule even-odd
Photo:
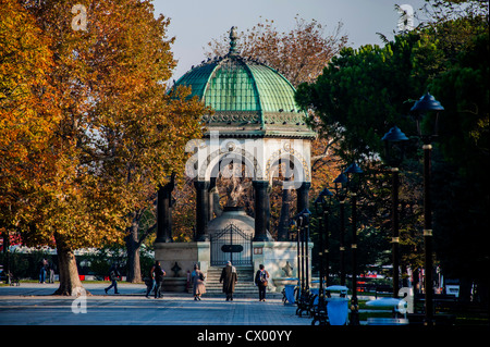
[[(51, 296), (58, 284), (22, 284), (0, 287), (0, 325), (309, 325), (298, 318), (296, 307), (283, 305), (274, 295), (266, 302), (257, 297), (204, 296), (164, 293), (163, 298), (146, 298), (145, 285), (119, 284), (105, 294), (108, 283), (86, 284), (89, 296)], [(76, 313), (78, 312), (78, 313)]]

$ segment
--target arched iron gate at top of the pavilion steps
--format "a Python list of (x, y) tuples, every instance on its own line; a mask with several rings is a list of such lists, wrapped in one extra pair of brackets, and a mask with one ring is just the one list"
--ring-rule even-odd
[(230, 260), (233, 265), (252, 264), (252, 236), (230, 224), (211, 235), (211, 265), (225, 265)]

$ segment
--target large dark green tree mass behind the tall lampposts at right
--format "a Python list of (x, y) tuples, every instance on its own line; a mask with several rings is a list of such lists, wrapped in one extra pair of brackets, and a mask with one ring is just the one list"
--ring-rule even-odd
[[(341, 157), (376, 162), (383, 153), (380, 139), (391, 126), (397, 125), (408, 136), (416, 134), (409, 108), (430, 90), (445, 108), (433, 156), (438, 259), (451, 275), (487, 288), (488, 280), (481, 273), (488, 269), (488, 251), (475, 239), (482, 237), (488, 225), (483, 212), (489, 200), (483, 177), (488, 168), (488, 3), (475, 8), (466, 2), (430, 3), (437, 10), (432, 21), (396, 35), (382, 48), (342, 50), (316, 83), (299, 85), (296, 100), (315, 111), (311, 123), (339, 134)], [(420, 252), (420, 246), (413, 243), (420, 225), (419, 160), (419, 146), (411, 141), (403, 170), (409, 185), (402, 186), (401, 205), (402, 212), (409, 212), (407, 220), (402, 218), (402, 237), (412, 237), (402, 248), (414, 252)], [(375, 187), (380, 191), (379, 185)], [(473, 236), (462, 236), (468, 227)]]

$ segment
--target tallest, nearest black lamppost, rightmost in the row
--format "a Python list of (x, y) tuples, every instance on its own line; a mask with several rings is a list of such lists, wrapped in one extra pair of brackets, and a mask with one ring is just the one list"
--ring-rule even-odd
[[(411, 111), (415, 113), (417, 131), (424, 145), (424, 245), (425, 245), (425, 324), (433, 325), (433, 286), (432, 286), (432, 210), (430, 196), (430, 157), (432, 151), (432, 139), (438, 133), (439, 112), (444, 108), (429, 92), (426, 92)], [(433, 119), (429, 119), (434, 114)]]

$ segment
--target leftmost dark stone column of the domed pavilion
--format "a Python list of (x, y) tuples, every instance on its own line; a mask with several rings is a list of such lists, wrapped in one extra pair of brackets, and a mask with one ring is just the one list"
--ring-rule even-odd
[(175, 187), (175, 175), (158, 189), (157, 199), (157, 238), (156, 243), (172, 241), (172, 190)]

